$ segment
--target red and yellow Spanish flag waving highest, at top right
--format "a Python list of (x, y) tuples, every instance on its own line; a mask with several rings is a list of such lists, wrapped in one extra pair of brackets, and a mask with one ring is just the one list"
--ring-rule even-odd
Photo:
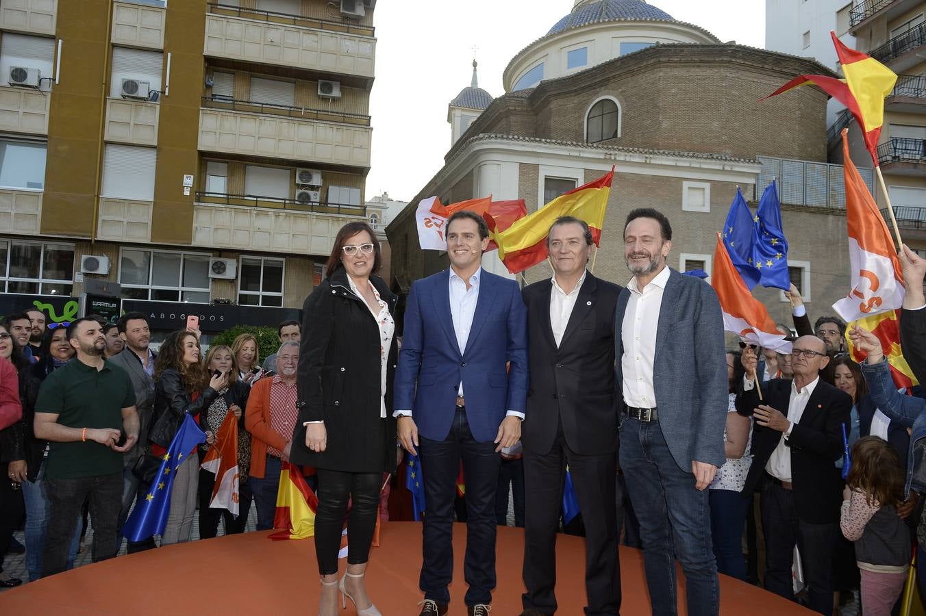
[(862, 127), (865, 147), (878, 166), (878, 139), (884, 123), (884, 97), (894, 90), (897, 76), (870, 55), (849, 49), (830, 31), (836, 55), (843, 67), (845, 79), (835, 80), (825, 75), (799, 75), (772, 92), (766, 98), (788, 92), (797, 86), (813, 83), (845, 105)]

